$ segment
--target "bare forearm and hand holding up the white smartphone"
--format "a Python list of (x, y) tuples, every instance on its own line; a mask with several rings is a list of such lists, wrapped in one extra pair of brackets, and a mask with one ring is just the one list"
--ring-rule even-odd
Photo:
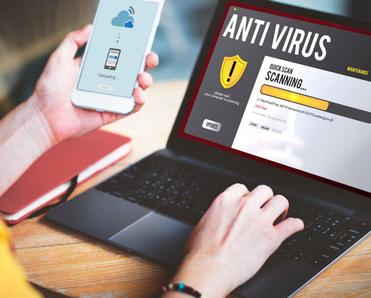
[[(88, 40), (91, 26), (71, 32), (52, 54), (34, 94), (0, 121), (0, 196), (52, 146), (119, 120), (122, 116), (75, 108), (70, 99), (81, 58), (76, 52)], [(158, 64), (147, 56), (147, 68)], [(143, 73), (134, 91), (135, 112), (145, 103), (144, 89), (152, 77)]]

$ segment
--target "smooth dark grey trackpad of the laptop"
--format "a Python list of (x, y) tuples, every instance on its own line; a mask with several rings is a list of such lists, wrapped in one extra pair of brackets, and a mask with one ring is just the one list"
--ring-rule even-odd
[(112, 236), (109, 240), (168, 266), (177, 266), (192, 227), (155, 212)]

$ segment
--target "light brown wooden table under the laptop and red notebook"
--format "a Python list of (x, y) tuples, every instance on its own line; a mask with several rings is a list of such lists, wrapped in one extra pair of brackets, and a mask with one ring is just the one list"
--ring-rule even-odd
[[(185, 88), (186, 82), (156, 84), (139, 114), (107, 127), (134, 137), (134, 151), (80, 187), (76, 194), (164, 148)], [(68, 296), (151, 297), (171, 274), (159, 265), (42, 218), (27, 220), (14, 227), (12, 233), (17, 257), (29, 280)], [(371, 297), (371, 239), (321, 274), (297, 297)]]

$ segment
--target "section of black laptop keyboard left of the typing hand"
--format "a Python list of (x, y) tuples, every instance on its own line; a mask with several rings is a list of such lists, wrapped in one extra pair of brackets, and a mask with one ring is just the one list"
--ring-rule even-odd
[(241, 181), (156, 155), (98, 189), (195, 225), (215, 197), (236, 182)]

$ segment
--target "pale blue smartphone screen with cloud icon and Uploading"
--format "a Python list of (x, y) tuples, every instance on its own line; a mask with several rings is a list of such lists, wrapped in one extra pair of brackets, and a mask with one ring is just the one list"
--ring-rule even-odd
[(130, 98), (160, 4), (101, 0), (77, 89)]

